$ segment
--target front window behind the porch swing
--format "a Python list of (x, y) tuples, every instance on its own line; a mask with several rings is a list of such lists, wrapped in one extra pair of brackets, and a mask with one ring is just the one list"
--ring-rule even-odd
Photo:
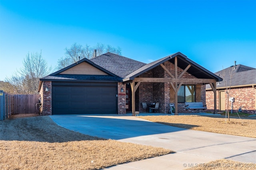
[(195, 102), (195, 85), (182, 85), (178, 91), (178, 102)]

